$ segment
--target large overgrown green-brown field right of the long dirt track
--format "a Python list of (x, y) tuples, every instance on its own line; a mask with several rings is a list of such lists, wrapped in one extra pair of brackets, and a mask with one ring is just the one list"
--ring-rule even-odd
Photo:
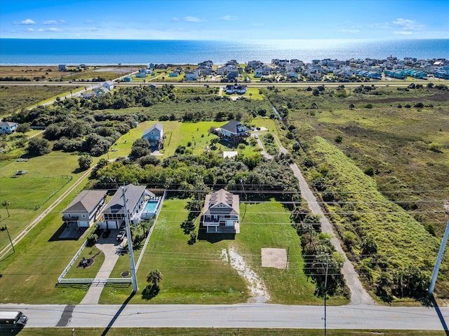
[[(287, 109), (288, 123), (296, 127), (290, 137), (302, 143), (297, 162), (314, 163), (302, 165), (304, 176), (326, 200), (330, 221), (361, 277), (374, 286), (378, 262), (389, 269), (415, 265), (429, 279), (447, 221), (442, 204), (449, 197), (448, 91), (343, 90), (326, 88), (314, 97), (283, 88), (267, 95), (276, 108)], [(414, 107), (418, 102), (423, 106)], [(361, 255), (367, 235), (377, 242), (377, 253)], [(442, 296), (448, 293), (447, 276), (443, 262), (436, 285)]]

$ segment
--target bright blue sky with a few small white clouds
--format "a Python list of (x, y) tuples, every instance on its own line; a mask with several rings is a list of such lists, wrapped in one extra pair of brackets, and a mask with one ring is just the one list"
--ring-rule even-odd
[(448, 0), (0, 0), (1, 38), (449, 38)]

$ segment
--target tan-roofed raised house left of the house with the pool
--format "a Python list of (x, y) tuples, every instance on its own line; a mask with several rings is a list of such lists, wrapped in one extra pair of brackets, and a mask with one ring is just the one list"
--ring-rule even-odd
[(105, 190), (83, 190), (62, 211), (62, 221), (78, 228), (89, 228), (101, 213), (105, 204)]

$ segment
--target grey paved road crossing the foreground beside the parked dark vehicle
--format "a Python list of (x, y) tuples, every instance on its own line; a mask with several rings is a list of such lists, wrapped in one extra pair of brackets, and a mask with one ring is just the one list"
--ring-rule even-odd
[[(314, 328), (324, 326), (323, 306), (280, 304), (0, 304), (1, 310), (21, 310), (26, 328)], [(449, 308), (441, 308), (448, 318)], [(433, 307), (327, 307), (328, 329), (444, 330)]]

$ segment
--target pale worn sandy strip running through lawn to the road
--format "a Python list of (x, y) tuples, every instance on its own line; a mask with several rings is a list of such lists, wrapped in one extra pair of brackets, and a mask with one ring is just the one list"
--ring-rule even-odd
[(229, 260), (232, 268), (236, 269), (239, 275), (248, 282), (248, 290), (250, 290), (251, 295), (250, 302), (260, 303), (269, 300), (269, 294), (262, 279), (246, 265), (243, 257), (233, 247), (229, 248), (228, 251), (223, 249), (220, 256), (226, 262)]

